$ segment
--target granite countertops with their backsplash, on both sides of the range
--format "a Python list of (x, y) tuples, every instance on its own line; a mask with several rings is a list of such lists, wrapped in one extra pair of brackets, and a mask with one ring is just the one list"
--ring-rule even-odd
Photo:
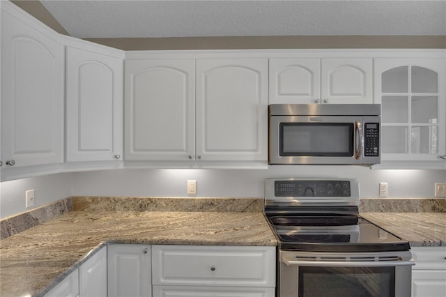
[[(360, 215), (413, 247), (446, 246), (446, 201), (397, 202), (366, 199)], [(413, 212), (392, 208), (407, 204)], [(261, 209), (260, 199), (62, 199), (1, 220), (0, 294), (43, 296), (113, 243), (275, 246)]]

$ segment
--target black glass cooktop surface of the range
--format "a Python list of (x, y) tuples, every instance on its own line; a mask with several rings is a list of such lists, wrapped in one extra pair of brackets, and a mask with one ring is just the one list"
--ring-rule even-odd
[(407, 241), (358, 215), (267, 215), (282, 250), (383, 252), (409, 250)]

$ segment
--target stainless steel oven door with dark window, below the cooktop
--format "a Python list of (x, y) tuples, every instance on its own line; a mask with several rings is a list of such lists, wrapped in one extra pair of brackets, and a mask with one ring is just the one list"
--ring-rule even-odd
[(279, 296), (410, 296), (412, 254), (280, 252)]

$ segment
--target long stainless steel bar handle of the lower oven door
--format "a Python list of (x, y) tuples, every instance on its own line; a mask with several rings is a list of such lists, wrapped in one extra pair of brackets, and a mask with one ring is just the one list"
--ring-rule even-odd
[(407, 261), (299, 261), (282, 257), (287, 266), (318, 266), (318, 267), (387, 267), (415, 265), (415, 259)]

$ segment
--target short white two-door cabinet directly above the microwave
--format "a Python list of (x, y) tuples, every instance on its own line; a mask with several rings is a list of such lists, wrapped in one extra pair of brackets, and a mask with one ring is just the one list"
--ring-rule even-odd
[(371, 58), (270, 59), (272, 103), (372, 103)]

